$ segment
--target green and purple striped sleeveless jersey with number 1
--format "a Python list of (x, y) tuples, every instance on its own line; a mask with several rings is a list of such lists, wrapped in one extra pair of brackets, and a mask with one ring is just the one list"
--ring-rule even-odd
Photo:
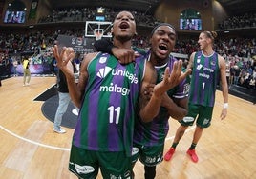
[(214, 52), (211, 56), (205, 56), (202, 51), (196, 52), (190, 84), (189, 103), (213, 107), (215, 91), (219, 81), (218, 54)]

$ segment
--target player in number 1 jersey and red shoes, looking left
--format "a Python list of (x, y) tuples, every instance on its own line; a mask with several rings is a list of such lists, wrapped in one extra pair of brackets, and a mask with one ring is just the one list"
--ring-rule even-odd
[(213, 50), (213, 43), (216, 37), (217, 33), (215, 31), (201, 32), (198, 40), (201, 50), (193, 52), (190, 56), (188, 68), (192, 69), (192, 77), (188, 114), (180, 121), (181, 126), (176, 131), (172, 147), (164, 156), (166, 161), (172, 158), (188, 126), (192, 126), (194, 122), (197, 121), (192, 144), (186, 153), (191, 157), (193, 162), (198, 162), (199, 159), (195, 148), (202, 136), (203, 129), (211, 125), (215, 91), (220, 80), (224, 97), (224, 108), (221, 113), (221, 120), (226, 117), (228, 108), (228, 87), (225, 75), (225, 61), (222, 56)]

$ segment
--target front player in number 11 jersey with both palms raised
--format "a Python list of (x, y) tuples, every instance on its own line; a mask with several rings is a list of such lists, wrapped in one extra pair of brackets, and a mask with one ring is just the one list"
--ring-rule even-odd
[[(136, 33), (134, 16), (129, 11), (117, 14), (113, 23), (114, 45), (131, 49)], [(160, 84), (154, 87), (149, 102), (142, 91), (155, 83), (156, 72), (146, 60), (126, 66), (108, 53), (87, 54), (82, 62), (78, 85), (74, 73), (67, 67), (74, 58), (71, 48), (53, 54), (65, 73), (71, 98), (80, 107), (73, 137), (69, 169), (79, 178), (96, 178), (100, 168), (103, 178), (133, 178), (131, 154), (135, 109), (143, 121), (151, 121), (158, 114), (160, 102), (167, 89), (185, 78), (181, 61), (174, 70), (167, 68)]]

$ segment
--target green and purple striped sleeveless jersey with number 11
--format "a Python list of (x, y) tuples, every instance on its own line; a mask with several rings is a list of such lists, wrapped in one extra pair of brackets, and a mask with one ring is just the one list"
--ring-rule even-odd
[(143, 58), (124, 66), (113, 55), (98, 53), (89, 63), (89, 78), (73, 138), (76, 147), (131, 155), (145, 62)]

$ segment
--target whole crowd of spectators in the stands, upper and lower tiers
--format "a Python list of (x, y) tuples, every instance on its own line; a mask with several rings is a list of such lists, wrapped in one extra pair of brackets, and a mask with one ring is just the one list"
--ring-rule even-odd
[[(149, 26), (154, 26), (158, 23), (153, 17), (147, 18), (141, 15), (139, 12), (137, 17), (139, 17), (140, 23), (146, 23)], [(106, 18), (111, 20), (115, 14), (114, 10), (106, 9)], [(39, 23), (52, 23), (56, 21), (85, 21), (94, 20), (95, 10), (92, 9), (71, 9), (71, 10), (54, 10), (52, 16), (44, 17), (40, 19)], [(223, 28), (235, 28), (245, 26), (255, 25), (255, 14), (248, 15), (245, 14), (242, 17), (230, 17), (230, 21), (233, 23), (228, 23), (224, 21)], [(247, 21), (246, 18), (250, 17)], [(238, 21), (238, 22), (237, 22)], [(154, 22), (154, 23), (152, 23)], [(243, 22), (243, 23), (242, 23)], [(26, 51), (32, 51), (33, 56), (40, 54), (42, 50), (46, 50), (53, 47), (54, 41), (59, 34), (65, 34), (70, 36), (83, 36), (84, 30), (49, 30), (49, 31), (36, 31), (28, 33), (0, 33), (0, 65), (11, 66), (11, 54), (23, 53)], [(198, 50), (197, 45), (198, 39), (178, 39), (176, 43), (175, 53), (190, 55), (193, 51)], [(138, 35), (133, 40), (134, 46), (141, 49), (146, 49), (149, 47), (148, 37), (143, 35)], [(222, 38), (215, 41), (214, 49), (221, 55), (224, 56), (227, 69), (229, 70), (229, 84), (241, 85), (246, 88), (255, 89), (255, 78), (256, 78), (256, 37), (255, 38)], [(50, 54), (46, 53), (46, 58), (51, 58)], [(49, 55), (49, 56), (48, 56)], [(44, 57), (44, 56), (43, 56)], [(254, 59), (254, 60), (253, 60)], [(20, 61), (20, 59), (17, 59)], [(44, 60), (42, 60), (44, 62)], [(253, 86), (254, 84), (254, 86)]]

